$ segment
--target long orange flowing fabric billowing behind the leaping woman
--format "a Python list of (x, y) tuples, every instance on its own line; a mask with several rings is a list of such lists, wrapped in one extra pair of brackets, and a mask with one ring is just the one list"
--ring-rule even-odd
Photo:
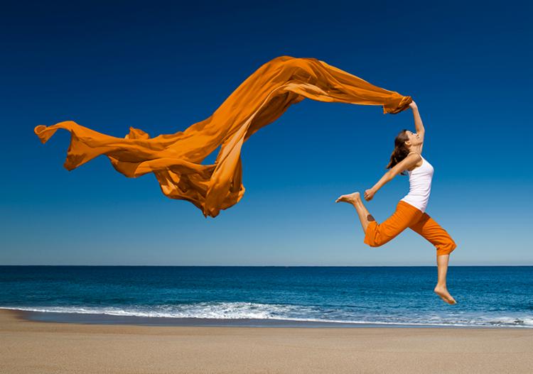
[[(185, 131), (150, 138), (148, 133), (130, 126), (129, 134), (116, 138), (74, 121), (39, 125), (34, 131), (42, 143), (58, 128), (70, 131), (64, 164), (67, 170), (107, 155), (115, 170), (126, 177), (154, 172), (163, 194), (192, 202), (207, 218), (237, 204), (244, 194), (242, 143), (306, 97), (382, 105), (384, 114), (399, 113), (412, 101), (409, 96), (376, 87), (316, 58), (280, 56), (244, 80), (208, 119)], [(202, 165), (219, 145), (215, 163)]]

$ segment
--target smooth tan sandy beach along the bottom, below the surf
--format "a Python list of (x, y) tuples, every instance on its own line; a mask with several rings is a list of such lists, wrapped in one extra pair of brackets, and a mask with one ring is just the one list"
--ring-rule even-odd
[(533, 329), (61, 324), (0, 310), (0, 373), (531, 373)]

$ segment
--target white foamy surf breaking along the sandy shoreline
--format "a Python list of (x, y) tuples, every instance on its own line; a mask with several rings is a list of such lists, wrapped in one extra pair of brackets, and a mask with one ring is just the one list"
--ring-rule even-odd
[[(330, 322), (343, 324), (383, 324), (417, 326), (502, 326), (533, 328), (533, 316), (483, 316), (461, 313), (446, 315), (349, 314), (342, 310), (325, 312), (319, 307), (261, 304), (254, 302), (196, 302), (129, 307), (0, 307), (33, 312), (108, 314), (131, 317), (168, 317), (195, 319), (274, 319), (284, 321)], [(328, 316), (328, 318), (325, 318)]]

